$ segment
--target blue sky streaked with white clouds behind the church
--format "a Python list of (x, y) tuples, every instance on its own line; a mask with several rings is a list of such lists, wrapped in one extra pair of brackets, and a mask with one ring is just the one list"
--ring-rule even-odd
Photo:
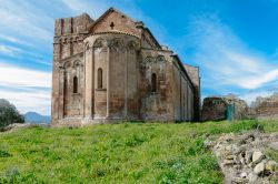
[(278, 91), (278, 0), (0, 0), (0, 98), (50, 114), (54, 19), (110, 7), (199, 65), (202, 98)]

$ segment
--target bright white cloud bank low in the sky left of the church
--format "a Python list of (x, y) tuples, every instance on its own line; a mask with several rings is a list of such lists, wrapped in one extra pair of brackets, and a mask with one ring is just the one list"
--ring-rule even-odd
[(50, 72), (0, 63), (0, 99), (9, 100), (22, 113), (36, 111), (50, 114)]

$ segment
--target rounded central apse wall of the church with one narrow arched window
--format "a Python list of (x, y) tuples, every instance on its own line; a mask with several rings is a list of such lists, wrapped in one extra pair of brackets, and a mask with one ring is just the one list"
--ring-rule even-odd
[[(86, 65), (86, 71), (93, 73), (93, 79), (86, 81), (89, 92), (86, 102), (95, 104), (88, 115), (92, 119), (139, 119), (138, 38), (112, 32), (90, 35), (85, 42), (87, 50), (92, 50), (86, 51), (92, 54), (86, 57), (86, 63), (92, 64)], [(99, 70), (102, 71), (102, 86), (99, 86)]]

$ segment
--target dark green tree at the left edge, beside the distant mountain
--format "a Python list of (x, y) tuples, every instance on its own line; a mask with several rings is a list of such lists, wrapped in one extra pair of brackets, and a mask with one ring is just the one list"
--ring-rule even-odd
[(24, 123), (24, 116), (4, 99), (0, 99), (0, 130), (12, 123)]

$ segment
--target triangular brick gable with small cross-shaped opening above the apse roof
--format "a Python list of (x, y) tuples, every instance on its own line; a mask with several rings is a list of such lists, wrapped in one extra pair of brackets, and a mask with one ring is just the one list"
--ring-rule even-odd
[(135, 34), (137, 37), (141, 35), (141, 30), (137, 28), (136, 21), (127, 17), (126, 14), (115, 10), (109, 9), (103, 16), (101, 16), (90, 28), (91, 33), (107, 32), (111, 31), (111, 23), (113, 24), (115, 31), (126, 32)]

